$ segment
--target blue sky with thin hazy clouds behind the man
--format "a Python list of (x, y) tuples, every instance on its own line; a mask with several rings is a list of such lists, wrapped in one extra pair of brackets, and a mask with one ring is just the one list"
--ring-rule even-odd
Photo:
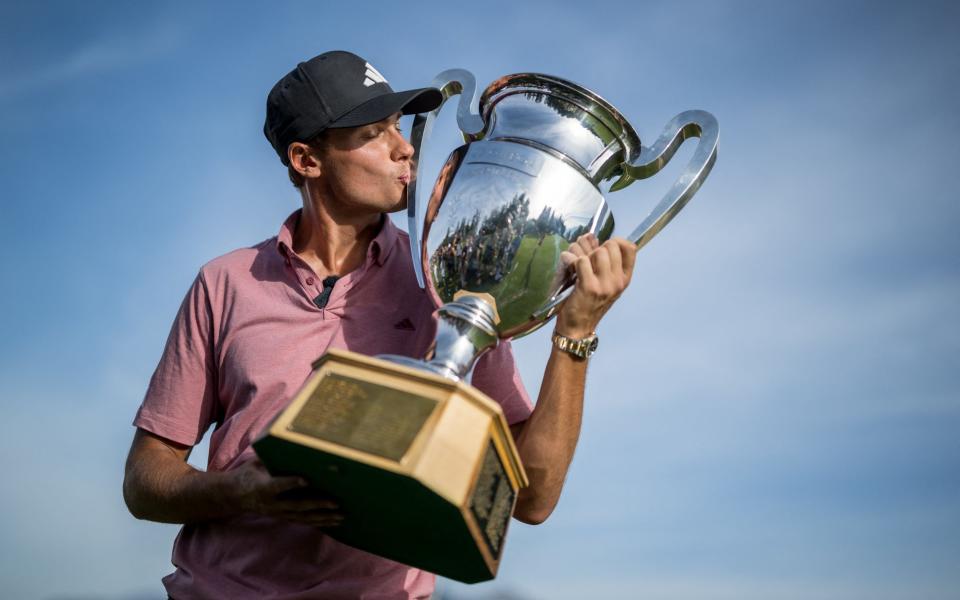
[[(958, 10), (467, 6), (0, 8), (3, 589), (162, 597), (176, 528), (123, 507), (130, 420), (199, 266), (297, 206), (267, 91), (342, 48), (396, 89), (567, 77), (648, 143), (685, 109), (720, 121), (713, 175), (599, 331), (559, 508), (514, 524), (496, 581), (443, 594), (955, 598)], [(456, 144), (437, 132), (428, 177)], [(689, 153), (611, 195), (619, 233)], [(515, 345), (534, 395), (547, 334)]]

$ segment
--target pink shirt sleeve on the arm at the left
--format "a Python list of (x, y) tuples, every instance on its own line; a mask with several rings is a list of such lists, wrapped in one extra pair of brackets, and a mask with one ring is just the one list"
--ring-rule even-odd
[(134, 426), (186, 446), (203, 438), (217, 405), (212, 323), (201, 271), (180, 305)]

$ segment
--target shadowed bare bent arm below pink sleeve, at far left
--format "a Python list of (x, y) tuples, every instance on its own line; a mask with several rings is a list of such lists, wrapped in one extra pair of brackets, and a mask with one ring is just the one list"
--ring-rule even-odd
[(123, 497), (138, 519), (195, 523), (236, 514), (225, 474), (190, 466), (175, 451), (135, 447), (127, 459)]

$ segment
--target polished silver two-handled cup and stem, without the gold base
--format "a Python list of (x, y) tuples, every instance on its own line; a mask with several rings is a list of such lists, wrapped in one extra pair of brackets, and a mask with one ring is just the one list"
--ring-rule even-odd
[[(437, 337), (424, 360), (383, 358), (461, 379), (499, 339), (529, 333), (556, 313), (573, 289), (561, 253), (585, 233), (603, 242), (613, 232), (604, 192), (650, 177), (685, 139), (700, 138), (687, 169), (628, 236), (643, 246), (710, 172), (718, 129), (711, 114), (687, 111), (642, 146), (610, 103), (557, 77), (509, 75), (479, 97), (462, 69), (444, 71), (433, 85), (444, 102), (460, 94), (466, 141), (429, 198), (416, 177), (408, 188), (414, 267), (439, 308)], [(415, 161), (442, 108), (415, 118)]]

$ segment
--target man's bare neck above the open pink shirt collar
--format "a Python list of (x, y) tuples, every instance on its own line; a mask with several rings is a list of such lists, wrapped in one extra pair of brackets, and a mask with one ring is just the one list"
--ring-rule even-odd
[(303, 212), (293, 235), (293, 251), (317, 276), (346, 275), (363, 265), (370, 242), (380, 230), (380, 213), (338, 210), (313, 186), (301, 189)]

